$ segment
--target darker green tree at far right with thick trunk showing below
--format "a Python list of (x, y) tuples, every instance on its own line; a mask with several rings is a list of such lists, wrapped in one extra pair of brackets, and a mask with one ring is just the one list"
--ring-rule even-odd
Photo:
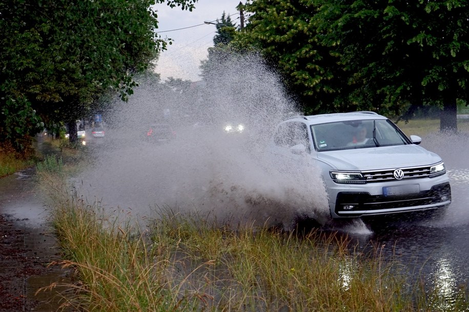
[(467, 2), (334, 0), (317, 16), (334, 21), (323, 37), (339, 43), (350, 101), (404, 117), (437, 106), (440, 129), (457, 130), (457, 101), (469, 97)]

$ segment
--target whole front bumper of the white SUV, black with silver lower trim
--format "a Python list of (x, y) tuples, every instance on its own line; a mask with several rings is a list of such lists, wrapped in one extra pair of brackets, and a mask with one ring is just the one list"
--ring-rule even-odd
[[(373, 186), (376, 189), (375, 186), (378, 185)], [(372, 194), (365, 189), (336, 192), (332, 197), (334, 202), (330, 203), (332, 217), (352, 218), (414, 212), (435, 209), (451, 203), (451, 186), (448, 181), (432, 185), (426, 190), (421, 185), (420, 192), (406, 195), (385, 196), (382, 192)]]

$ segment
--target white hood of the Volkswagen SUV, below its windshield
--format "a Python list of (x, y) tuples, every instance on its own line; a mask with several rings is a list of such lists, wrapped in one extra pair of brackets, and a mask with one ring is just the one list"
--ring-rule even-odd
[(336, 170), (380, 170), (418, 167), (441, 161), (440, 156), (418, 145), (318, 152), (317, 158)]

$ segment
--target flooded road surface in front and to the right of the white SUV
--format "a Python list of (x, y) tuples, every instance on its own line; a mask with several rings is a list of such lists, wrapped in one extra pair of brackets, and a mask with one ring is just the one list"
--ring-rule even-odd
[[(370, 230), (347, 233), (361, 249), (370, 242), (384, 246), (385, 257), (396, 256), (411, 280), (425, 280), (451, 296), (469, 286), (469, 135), (424, 138), (424, 148), (438, 153), (450, 175), (452, 203), (441, 216), (399, 216), (379, 222), (365, 221)], [(456, 143), (457, 142), (457, 143)]]

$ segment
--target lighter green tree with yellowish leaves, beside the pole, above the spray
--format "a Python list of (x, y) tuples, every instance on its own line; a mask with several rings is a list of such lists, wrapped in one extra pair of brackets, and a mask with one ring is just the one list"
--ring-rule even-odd
[(251, 12), (249, 22), (232, 45), (260, 51), (305, 112), (343, 109), (340, 59), (321, 41), (320, 30), (327, 25), (315, 18), (318, 7), (306, 0), (254, 0), (244, 9)]

